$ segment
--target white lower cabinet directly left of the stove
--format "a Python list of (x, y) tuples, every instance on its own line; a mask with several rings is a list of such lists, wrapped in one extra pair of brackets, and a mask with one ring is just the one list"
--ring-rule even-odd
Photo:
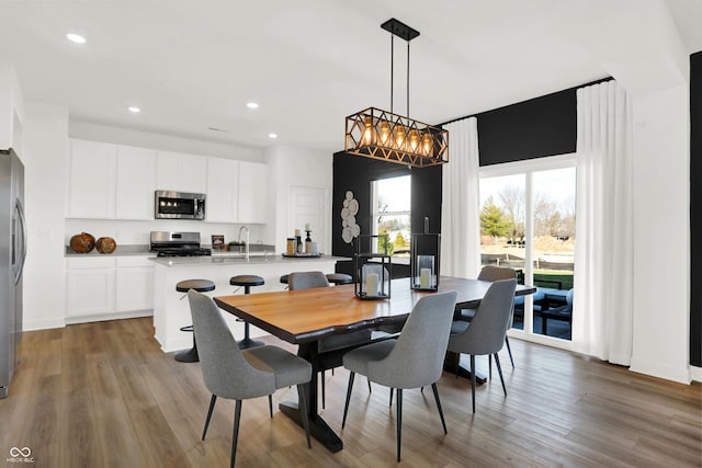
[(118, 256), (116, 270), (116, 311), (154, 308), (154, 262), (147, 256)]

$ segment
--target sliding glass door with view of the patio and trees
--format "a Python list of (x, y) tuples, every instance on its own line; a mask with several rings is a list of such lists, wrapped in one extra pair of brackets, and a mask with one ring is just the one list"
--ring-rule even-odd
[(511, 333), (525, 339), (570, 340), (575, 184), (570, 155), (480, 170), (482, 263), (513, 267), (537, 287), (514, 304)]

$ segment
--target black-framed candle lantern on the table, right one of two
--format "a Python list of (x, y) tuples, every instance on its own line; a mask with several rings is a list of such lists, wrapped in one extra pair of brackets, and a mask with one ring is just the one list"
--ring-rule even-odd
[(410, 242), (410, 287), (415, 290), (439, 290), (441, 258), (440, 233), (415, 233)]

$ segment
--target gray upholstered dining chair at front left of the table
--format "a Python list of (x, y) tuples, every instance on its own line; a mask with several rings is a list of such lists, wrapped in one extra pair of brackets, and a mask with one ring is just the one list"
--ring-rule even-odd
[(303, 426), (307, 436), (307, 447), (312, 448), (304, 391), (304, 385), (307, 385), (312, 377), (312, 365), (278, 346), (263, 345), (239, 350), (214, 300), (193, 289), (188, 293), (188, 298), (197, 340), (203, 379), (212, 392), (202, 440), (204, 441), (207, 434), (207, 426), (217, 397), (236, 400), (230, 461), (234, 467), (239, 438), (241, 400), (268, 395), (269, 412), (272, 418), (271, 395), (279, 388), (296, 385), (299, 413), (303, 415)]

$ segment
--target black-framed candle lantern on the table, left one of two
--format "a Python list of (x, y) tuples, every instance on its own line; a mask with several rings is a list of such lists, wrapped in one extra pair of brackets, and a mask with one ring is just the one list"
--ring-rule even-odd
[(387, 253), (389, 236), (360, 235), (354, 240), (353, 290), (359, 299), (390, 298), (393, 264)]

